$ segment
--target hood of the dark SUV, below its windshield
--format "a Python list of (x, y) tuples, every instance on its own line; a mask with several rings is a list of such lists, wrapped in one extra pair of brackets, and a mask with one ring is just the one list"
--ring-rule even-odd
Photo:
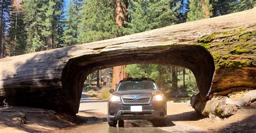
[(113, 95), (156, 95), (160, 94), (160, 91), (155, 90), (131, 90), (131, 91), (116, 91)]

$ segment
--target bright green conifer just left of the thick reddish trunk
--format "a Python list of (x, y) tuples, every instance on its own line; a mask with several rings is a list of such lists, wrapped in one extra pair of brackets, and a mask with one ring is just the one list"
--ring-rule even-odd
[(78, 27), (79, 42), (87, 43), (117, 36), (113, 2), (86, 0), (81, 17)]

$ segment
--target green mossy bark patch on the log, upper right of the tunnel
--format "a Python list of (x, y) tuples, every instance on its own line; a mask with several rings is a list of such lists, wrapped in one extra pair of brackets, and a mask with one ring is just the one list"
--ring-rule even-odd
[(256, 31), (244, 28), (205, 35), (196, 45), (205, 47), (214, 58), (215, 67), (255, 67)]

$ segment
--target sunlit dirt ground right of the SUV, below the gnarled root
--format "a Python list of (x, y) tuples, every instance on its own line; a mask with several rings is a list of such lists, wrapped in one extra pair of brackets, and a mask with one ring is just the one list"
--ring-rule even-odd
[[(185, 111), (184, 111), (185, 110)], [(167, 117), (174, 123), (193, 125), (210, 132), (256, 132), (256, 102), (238, 109), (235, 115), (226, 119), (218, 117), (204, 118), (198, 115), (191, 106), (177, 104), (168, 107)]]

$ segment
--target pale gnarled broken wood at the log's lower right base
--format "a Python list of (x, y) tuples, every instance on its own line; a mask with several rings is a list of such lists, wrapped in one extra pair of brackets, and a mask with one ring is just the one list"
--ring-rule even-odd
[(246, 91), (229, 95), (228, 97), (213, 95), (208, 101), (201, 100), (200, 95), (191, 98), (191, 106), (199, 114), (204, 116), (218, 116), (225, 118), (237, 112), (237, 109), (250, 106), (251, 102), (256, 101), (256, 90)]

